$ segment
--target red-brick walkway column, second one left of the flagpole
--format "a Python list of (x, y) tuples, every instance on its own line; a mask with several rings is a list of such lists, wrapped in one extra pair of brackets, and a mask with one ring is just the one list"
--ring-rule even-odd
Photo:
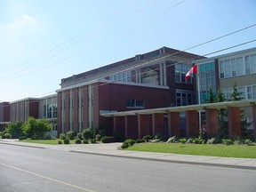
[(180, 136), (180, 112), (168, 113), (168, 134), (169, 137)]

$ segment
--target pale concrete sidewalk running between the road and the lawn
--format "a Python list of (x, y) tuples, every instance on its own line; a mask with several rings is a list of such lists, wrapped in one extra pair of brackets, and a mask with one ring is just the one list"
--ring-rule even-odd
[(122, 143), (98, 143), (81, 145), (44, 145), (21, 143), (17, 140), (0, 140), (0, 144), (16, 145), (30, 148), (44, 148), (72, 153), (94, 154), (100, 156), (116, 156), (141, 160), (170, 162), (176, 164), (197, 164), (238, 169), (256, 170), (256, 158), (230, 158), (218, 156), (188, 156), (166, 153), (136, 152), (122, 150)]

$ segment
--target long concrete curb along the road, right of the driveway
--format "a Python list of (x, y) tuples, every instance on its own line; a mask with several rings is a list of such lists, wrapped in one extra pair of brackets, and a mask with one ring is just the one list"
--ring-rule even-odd
[(90, 154), (97, 156), (113, 156), (119, 158), (128, 158), (128, 159), (139, 159), (146, 161), (154, 161), (154, 162), (164, 162), (164, 163), (174, 163), (174, 164), (192, 164), (192, 165), (202, 165), (202, 166), (212, 166), (212, 167), (224, 167), (224, 168), (236, 168), (236, 169), (244, 169), (244, 170), (256, 170), (256, 167), (253, 166), (244, 166), (244, 165), (234, 165), (234, 164), (212, 164), (212, 163), (201, 163), (201, 162), (188, 162), (188, 161), (177, 161), (177, 160), (167, 160), (167, 159), (159, 159), (159, 158), (151, 158), (151, 157), (141, 157), (141, 156), (119, 156), (119, 155), (111, 155), (111, 154), (100, 154), (93, 152), (84, 152), (84, 151), (76, 151), (70, 150), (71, 153), (78, 154)]

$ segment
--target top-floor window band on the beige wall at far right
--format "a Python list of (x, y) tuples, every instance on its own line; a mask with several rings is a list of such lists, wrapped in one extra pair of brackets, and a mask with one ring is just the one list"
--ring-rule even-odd
[(256, 54), (220, 60), (220, 78), (256, 73)]

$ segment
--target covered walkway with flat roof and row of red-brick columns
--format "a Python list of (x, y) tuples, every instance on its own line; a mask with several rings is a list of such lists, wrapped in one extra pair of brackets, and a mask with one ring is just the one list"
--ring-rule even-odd
[(180, 136), (180, 112), (186, 114), (186, 137), (199, 132), (198, 111), (205, 111), (205, 126), (208, 137), (218, 133), (218, 109), (228, 109), (228, 134), (241, 136), (240, 108), (252, 108), (252, 126), (256, 139), (256, 100), (239, 100), (207, 103), (170, 108), (151, 108), (124, 112), (104, 113), (100, 116), (113, 118), (114, 131), (124, 132), (125, 138), (142, 138), (144, 135), (164, 135), (164, 116), (168, 118), (168, 136)]

